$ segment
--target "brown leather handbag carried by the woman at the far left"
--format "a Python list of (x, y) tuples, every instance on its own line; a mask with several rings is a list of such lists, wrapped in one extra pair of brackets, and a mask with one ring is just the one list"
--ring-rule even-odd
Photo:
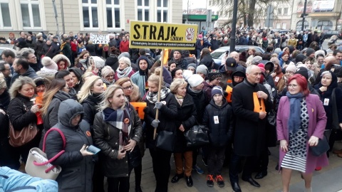
[[(23, 103), (24, 109), (27, 110), (26, 105)], [(31, 142), (34, 137), (38, 134), (39, 129), (37, 128), (36, 123), (30, 123), (28, 126), (23, 127), (20, 131), (14, 129), (11, 121), (9, 121), (9, 144), (14, 147), (23, 146), (28, 142)]]

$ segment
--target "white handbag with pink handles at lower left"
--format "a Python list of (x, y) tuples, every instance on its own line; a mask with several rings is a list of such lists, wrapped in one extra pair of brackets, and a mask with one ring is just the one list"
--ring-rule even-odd
[[(57, 131), (59, 134), (61, 134), (63, 139), (63, 150), (53, 156), (53, 158), (48, 159), (45, 153), (45, 142), (46, 137), (48, 137), (48, 134), (52, 131)], [(66, 137), (64, 136), (63, 132), (57, 128), (49, 129), (43, 139), (43, 151), (37, 147), (33, 147), (28, 152), (28, 158), (25, 166), (26, 174), (43, 179), (56, 180), (58, 175), (61, 173), (62, 168), (61, 166), (52, 165), (51, 162), (55, 161), (59, 156), (61, 156), (61, 154), (65, 152), (64, 149), (66, 149)]]

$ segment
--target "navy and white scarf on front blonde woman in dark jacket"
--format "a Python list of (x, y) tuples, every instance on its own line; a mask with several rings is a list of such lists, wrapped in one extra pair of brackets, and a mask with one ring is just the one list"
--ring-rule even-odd
[(110, 107), (103, 110), (103, 119), (105, 122), (113, 125), (113, 127), (120, 129), (119, 144), (125, 146), (128, 144), (130, 134), (130, 112), (126, 106), (124, 109), (113, 110)]

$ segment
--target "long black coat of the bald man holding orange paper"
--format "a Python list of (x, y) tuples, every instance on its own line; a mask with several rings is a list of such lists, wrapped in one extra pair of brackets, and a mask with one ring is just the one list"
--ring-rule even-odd
[(272, 108), (271, 97), (266, 87), (251, 84), (247, 80), (234, 86), (232, 107), (237, 117), (234, 130), (234, 152), (239, 156), (259, 156), (266, 147), (266, 121), (259, 119), (259, 112), (254, 112), (253, 92), (265, 92), (266, 112)]

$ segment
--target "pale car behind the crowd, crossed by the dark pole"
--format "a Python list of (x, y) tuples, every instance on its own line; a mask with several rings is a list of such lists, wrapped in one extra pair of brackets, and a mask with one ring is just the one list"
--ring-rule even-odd
[[(245, 50), (248, 50), (249, 48), (254, 48), (257, 52), (261, 52), (261, 53), (265, 52), (261, 47), (258, 47), (258, 46), (235, 46), (235, 51), (237, 51), (238, 53), (242, 53)], [(210, 53), (212, 55), (212, 59), (214, 60), (214, 63), (215, 63), (215, 69), (219, 68), (219, 65), (221, 65), (222, 57), (229, 50), (230, 50), (230, 46), (224, 46), (224, 47), (218, 48), (217, 50), (214, 50), (212, 53)]]

